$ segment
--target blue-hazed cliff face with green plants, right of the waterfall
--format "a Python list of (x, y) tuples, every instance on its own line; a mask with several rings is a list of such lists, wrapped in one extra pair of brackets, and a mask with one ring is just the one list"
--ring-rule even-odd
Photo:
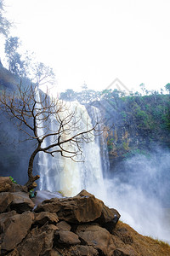
[(94, 102), (105, 125), (111, 168), (133, 154), (147, 154), (156, 145), (170, 148), (170, 96), (110, 97)]

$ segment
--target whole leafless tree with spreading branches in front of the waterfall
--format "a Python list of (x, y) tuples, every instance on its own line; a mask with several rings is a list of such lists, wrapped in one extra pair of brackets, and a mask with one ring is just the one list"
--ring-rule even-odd
[(75, 161), (82, 161), (82, 143), (94, 140), (94, 131), (98, 133), (99, 120), (92, 125), (86, 112), (79, 112), (77, 106), (71, 108), (64, 103), (50, 98), (37, 86), (23, 88), (20, 84), (13, 93), (3, 90), (0, 95), (0, 108), (14, 119), (20, 131), (28, 140), (36, 143), (28, 165), (28, 190), (37, 186), (40, 176), (33, 175), (33, 162), (38, 152), (54, 156), (59, 153)]

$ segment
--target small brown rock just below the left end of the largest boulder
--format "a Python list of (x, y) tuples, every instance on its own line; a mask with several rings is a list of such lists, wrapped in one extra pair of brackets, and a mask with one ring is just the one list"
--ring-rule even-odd
[(59, 218), (57, 217), (56, 213), (50, 213), (50, 212), (39, 212), (35, 213), (35, 219), (34, 219), (34, 225), (40, 225), (43, 224), (57, 224), (59, 221)]

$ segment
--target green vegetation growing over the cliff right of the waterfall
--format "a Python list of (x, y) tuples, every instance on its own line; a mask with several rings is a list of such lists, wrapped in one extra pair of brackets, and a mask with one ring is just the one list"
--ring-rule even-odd
[[(127, 156), (127, 151), (129, 151), (130, 156), (138, 149), (142, 153), (144, 148), (154, 142), (167, 143), (167, 146), (170, 146), (170, 101), (168, 95), (125, 96), (117, 98), (115, 102), (116, 108), (110, 104), (108, 111), (105, 111), (105, 119), (110, 119), (110, 127), (114, 125), (114, 129), (111, 131), (115, 129), (118, 131), (116, 148), (119, 155)], [(126, 131), (129, 134), (130, 142), (124, 135)], [(112, 134), (113, 132), (108, 137), (109, 142), (111, 142), (111, 138), (114, 139)], [(109, 151), (111, 151), (111, 143), (108, 145)]]

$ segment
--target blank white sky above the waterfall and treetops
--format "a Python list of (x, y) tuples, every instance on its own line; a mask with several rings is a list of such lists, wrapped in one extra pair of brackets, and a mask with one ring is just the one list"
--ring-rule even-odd
[[(54, 68), (59, 90), (131, 90), (170, 82), (169, 0), (5, 0), (26, 49)], [(114, 85), (113, 85), (114, 86)]]

